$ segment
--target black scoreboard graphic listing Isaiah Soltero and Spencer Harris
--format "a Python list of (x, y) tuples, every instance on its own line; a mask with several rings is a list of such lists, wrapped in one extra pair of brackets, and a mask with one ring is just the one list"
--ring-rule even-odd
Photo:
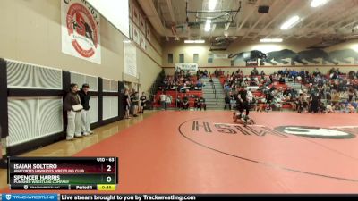
[(9, 157), (10, 189), (115, 190), (117, 157)]

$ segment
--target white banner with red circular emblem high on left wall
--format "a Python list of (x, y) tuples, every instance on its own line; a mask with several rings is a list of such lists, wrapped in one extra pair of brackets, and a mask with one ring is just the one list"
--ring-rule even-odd
[(82, 0), (61, 1), (62, 52), (101, 63), (100, 14)]

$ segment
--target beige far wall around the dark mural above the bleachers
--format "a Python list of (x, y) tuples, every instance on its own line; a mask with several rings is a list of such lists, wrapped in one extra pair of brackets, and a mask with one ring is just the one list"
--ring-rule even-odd
[[(294, 54), (308, 54), (312, 55), (313, 61), (318, 63), (311, 63), (303, 60), (303, 63), (294, 62), (294, 65), (291, 63), (291, 58), (284, 58), (284, 60), (288, 63), (278, 63), (275, 59), (271, 60), (271, 63), (264, 63), (264, 65), (260, 65), (260, 59), (258, 70), (264, 70), (266, 73), (272, 73), (274, 71), (278, 71), (280, 69), (295, 69), (297, 71), (301, 71), (302, 69), (306, 71), (314, 71), (318, 68), (320, 71), (326, 72), (329, 69), (335, 67), (339, 68), (343, 72), (348, 71), (357, 71), (358, 65), (358, 41), (351, 40), (345, 43), (330, 46), (328, 48), (324, 48), (322, 50), (311, 50), (307, 49), (308, 46), (315, 45), (320, 42), (320, 39), (291, 39), (288, 41), (284, 41), (284, 43), (277, 43), (277, 44), (262, 44), (260, 42), (252, 42), (252, 41), (242, 41), (241, 39), (236, 40), (230, 46), (228, 46), (226, 51), (219, 51), (219, 52), (210, 52), (209, 51), (209, 44), (184, 44), (182, 41), (174, 41), (174, 42), (166, 42), (163, 47), (163, 67), (167, 74), (174, 73), (174, 64), (179, 62), (179, 54), (184, 54), (184, 63), (193, 63), (193, 54), (199, 54), (199, 66), (200, 69), (207, 69), (208, 71), (215, 71), (216, 68), (221, 68), (223, 71), (232, 71), (240, 69), (243, 70), (245, 74), (251, 72), (253, 67), (246, 66), (246, 63), (243, 57), (235, 57), (234, 59), (234, 66), (231, 64), (232, 59), (216, 59), (214, 58), (213, 63), (208, 63), (208, 54), (244, 54), (250, 53), (252, 50), (259, 50), (264, 54), (269, 54), (272, 52), (276, 52), (277, 54), (283, 54), (282, 56), (285, 57), (285, 53), (282, 53), (282, 50), (289, 50), (292, 51)], [(303, 51), (311, 51), (304, 53)], [(337, 51), (338, 50), (338, 51)], [(331, 53), (336, 55), (331, 55)], [(168, 63), (167, 54), (173, 54), (174, 56), (174, 63)], [(332, 57), (332, 61), (334, 63), (330, 63), (329, 61), (323, 63), (323, 59), (320, 57), (320, 54), (328, 55), (328, 57)], [(344, 57), (346, 60), (345, 62), (341, 62), (337, 60), (338, 57)], [(343, 56), (342, 56), (343, 55)], [(302, 55), (301, 57), (304, 58), (306, 55)], [(318, 56), (317, 58), (314, 58)], [(300, 57), (300, 58), (301, 58)], [(354, 59), (355, 57), (355, 59)], [(310, 59), (310, 58), (308, 58)], [(332, 62), (331, 61), (331, 62)], [(274, 65), (273, 63), (276, 63)]]

